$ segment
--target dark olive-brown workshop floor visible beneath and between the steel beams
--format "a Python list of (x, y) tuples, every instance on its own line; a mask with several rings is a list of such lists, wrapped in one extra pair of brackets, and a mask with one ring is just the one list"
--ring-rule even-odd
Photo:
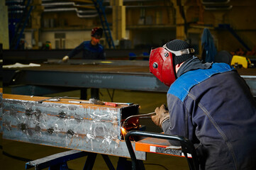
[[(112, 90), (110, 90), (112, 93)], [(108, 96), (108, 92), (106, 89), (100, 89), (101, 95), (100, 99), (103, 101), (111, 101)], [(89, 91), (88, 91), (88, 94)], [(45, 95), (46, 96), (46, 95)], [(79, 91), (69, 91), (61, 94), (51, 94), (47, 96), (72, 96), (79, 97)], [(166, 94), (165, 93), (155, 93), (155, 92), (141, 92), (141, 91), (125, 91), (125, 90), (115, 90), (113, 101), (116, 102), (133, 102), (138, 103), (140, 105), (140, 113), (150, 113), (155, 111), (155, 108), (161, 106), (162, 103), (166, 103)], [(146, 126), (146, 131), (149, 132), (161, 132), (160, 128), (158, 128), (152, 120), (141, 120), (141, 124)], [(40, 159), (42, 157), (47, 157), (51, 154), (56, 154), (59, 152), (65, 152), (68, 149), (57, 148), (57, 147), (48, 147), (43, 145), (34, 145), (25, 142), (17, 142), (11, 140), (3, 140), (0, 138), (0, 145), (2, 149), (0, 150), (0, 164), (1, 169), (3, 170), (15, 170), (15, 169), (26, 169), (25, 164), (26, 160), (21, 161), (18, 159), (14, 159), (13, 157), (6, 156), (7, 154), (11, 154), (16, 157), (21, 157), (24, 159)], [(109, 156), (111, 162), (114, 167), (117, 166), (118, 157)], [(84, 163), (87, 157), (82, 157), (79, 159), (74, 159), (72, 161), (67, 162), (69, 169), (83, 169)], [(187, 160), (182, 157), (172, 157), (163, 154), (147, 154), (147, 160), (143, 162), (146, 170), (151, 169), (189, 169), (187, 165)], [(96, 162), (94, 164), (94, 168), (96, 170), (99, 169), (108, 169), (106, 166), (104, 159), (100, 154), (96, 157)]]

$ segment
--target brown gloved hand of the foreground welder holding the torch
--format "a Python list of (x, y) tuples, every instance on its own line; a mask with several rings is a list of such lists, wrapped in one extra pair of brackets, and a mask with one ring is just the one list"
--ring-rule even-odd
[(165, 108), (165, 104), (162, 104), (160, 108), (155, 108), (155, 113), (156, 115), (153, 115), (151, 119), (155, 125), (158, 125), (160, 128), (162, 128), (162, 123), (169, 119), (169, 111), (167, 111)]

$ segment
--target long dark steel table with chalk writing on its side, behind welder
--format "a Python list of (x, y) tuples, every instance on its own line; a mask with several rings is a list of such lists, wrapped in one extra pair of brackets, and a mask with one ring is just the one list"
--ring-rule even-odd
[[(256, 68), (238, 69), (256, 96)], [(127, 89), (167, 92), (168, 87), (150, 73), (148, 61), (53, 60), (40, 67), (3, 69), (4, 84), (43, 87)], [(33, 89), (35, 91), (35, 89)], [(23, 90), (24, 91), (24, 90)], [(37, 94), (31, 94), (37, 95)]]

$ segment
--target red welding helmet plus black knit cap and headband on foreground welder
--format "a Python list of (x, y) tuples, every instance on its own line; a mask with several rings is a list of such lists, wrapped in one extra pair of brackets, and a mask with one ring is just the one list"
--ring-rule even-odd
[(167, 86), (177, 79), (175, 65), (193, 57), (194, 49), (183, 40), (172, 40), (150, 52), (150, 72)]

